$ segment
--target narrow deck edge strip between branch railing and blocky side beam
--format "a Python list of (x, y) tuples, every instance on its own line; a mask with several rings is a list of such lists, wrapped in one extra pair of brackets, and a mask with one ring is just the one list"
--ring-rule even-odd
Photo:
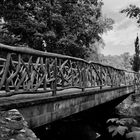
[[(122, 88), (124, 88), (126, 86), (122, 86)], [(120, 88), (120, 87), (118, 87)], [(97, 93), (102, 93), (105, 91), (110, 91), (110, 90), (114, 90), (115, 88), (106, 86), (103, 89), (100, 89), (100, 87), (96, 87), (96, 88), (86, 88), (84, 92), (81, 91), (81, 89), (78, 88), (69, 88), (69, 89), (65, 89), (62, 91), (57, 91), (57, 94), (55, 96), (52, 96), (52, 92), (47, 92), (47, 93), (17, 93), (15, 95), (11, 95), (11, 96), (2, 96), (0, 97), (0, 110), (5, 110), (5, 109), (10, 109), (13, 108), (11, 105), (15, 105), (18, 103), (23, 103), (24, 106), (26, 106), (27, 102), (33, 104), (34, 101), (41, 101), (41, 100), (49, 100), (51, 101), (54, 98), (65, 98), (65, 97), (74, 97), (74, 96), (82, 96), (82, 95), (86, 95), (88, 93), (92, 94), (97, 94)], [(2, 94), (0, 94), (2, 95)], [(18, 107), (18, 106), (16, 106)]]

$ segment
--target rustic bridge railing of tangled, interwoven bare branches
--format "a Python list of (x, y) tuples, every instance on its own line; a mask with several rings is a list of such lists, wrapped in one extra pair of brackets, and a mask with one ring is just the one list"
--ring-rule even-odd
[(80, 58), (0, 44), (1, 95), (68, 88), (119, 87), (139, 82), (137, 73)]

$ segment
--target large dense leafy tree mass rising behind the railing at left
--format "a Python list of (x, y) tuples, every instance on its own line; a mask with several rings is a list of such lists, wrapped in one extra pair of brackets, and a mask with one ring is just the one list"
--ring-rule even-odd
[(102, 16), (102, 5), (101, 0), (1, 0), (0, 41), (86, 58), (112, 29), (113, 20)]

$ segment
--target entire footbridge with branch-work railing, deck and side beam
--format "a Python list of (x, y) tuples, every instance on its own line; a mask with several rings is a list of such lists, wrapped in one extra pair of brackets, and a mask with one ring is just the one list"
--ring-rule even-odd
[(80, 58), (0, 44), (0, 110), (31, 128), (136, 92), (140, 74)]

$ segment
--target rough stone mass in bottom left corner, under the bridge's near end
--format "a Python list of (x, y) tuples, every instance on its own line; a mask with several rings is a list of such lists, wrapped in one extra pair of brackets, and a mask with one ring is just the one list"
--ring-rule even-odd
[(18, 110), (0, 112), (0, 140), (39, 140)]

